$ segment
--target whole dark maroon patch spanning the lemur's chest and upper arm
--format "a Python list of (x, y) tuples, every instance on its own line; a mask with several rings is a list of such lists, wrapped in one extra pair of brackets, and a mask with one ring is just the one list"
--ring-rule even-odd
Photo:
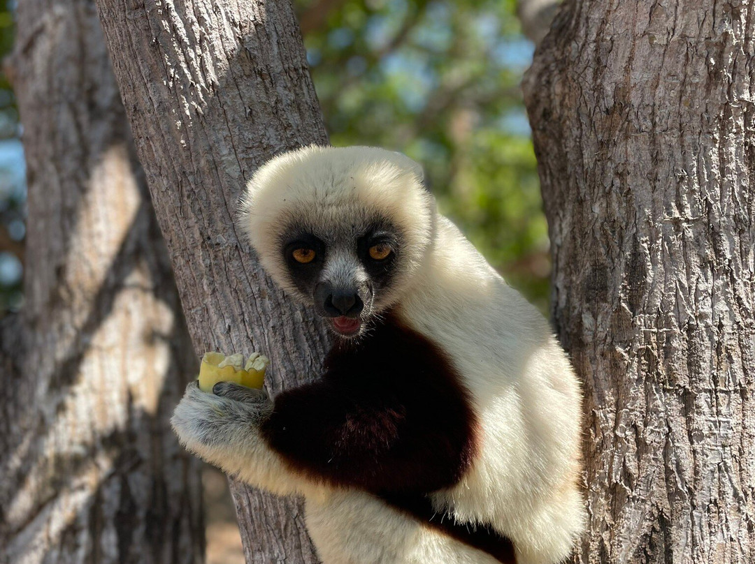
[(451, 360), (388, 315), (358, 341), (337, 343), (317, 382), (277, 397), (265, 434), (331, 483), (415, 495), (458, 483), (476, 427)]

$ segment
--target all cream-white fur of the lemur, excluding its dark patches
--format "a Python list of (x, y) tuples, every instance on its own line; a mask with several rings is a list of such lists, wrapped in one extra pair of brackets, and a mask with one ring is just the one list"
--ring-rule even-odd
[[(390, 280), (377, 290), (354, 256), (354, 241), (376, 217), (396, 231), (397, 247)], [(450, 361), (475, 417), (475, 447), (456, 483), (423, 492), (434, 510), (504, 535), (518, 564), (568, 556), (585, 523), (577, 379), (547, 321), (436, 211), (418, 164), (368, 147), (287, 152), (248, 182), (239, 225), (273, 280), (315, 306), (288, 268), (282, 244), (292, 226), (325, 241), (315, 283), (350, 281), (372, 294), (359, 313), (359, 335), (350, 339), (357, 350), (360, 339), (370, 339), (372, 320), (390, 311)], [(384, 354), (386, 372), (403, 361)], [(307, 527), (325, 564), (499, 562), (375, 492), (291, 464), (260, 431), (275, 409), (267, 395), (233, 385), (215, 392), (187, 388), (172, 420), (181, 443), (253, 486), (303, 495)], [(444, 406), (428, 409), (442, 419)]]

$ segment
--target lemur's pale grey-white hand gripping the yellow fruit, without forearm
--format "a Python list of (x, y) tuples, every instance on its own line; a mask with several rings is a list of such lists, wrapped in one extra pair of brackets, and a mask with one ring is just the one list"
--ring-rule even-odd
[(273, 402), (263, 390), (230, 382), (218, 382), (212, 392), (201, 391), (196, 381), (186, 386), (171, 425), (186, 449), (219, 464), (248, 444), (251, 431), (273, 412)]

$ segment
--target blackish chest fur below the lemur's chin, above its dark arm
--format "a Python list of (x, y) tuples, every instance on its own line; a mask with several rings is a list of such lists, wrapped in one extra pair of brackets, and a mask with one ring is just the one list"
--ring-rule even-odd
[(376, 438), (455, 449), (446, 458), (455, 477), (472, 461), (477, 426), (461, 375), (439, 347), (396, 316), (389, 314), (361, 342), (337, 343), (325, 360), (323, 382), (358, 398), (350, 415), (390, 418), (393, 425), (370, 430)]

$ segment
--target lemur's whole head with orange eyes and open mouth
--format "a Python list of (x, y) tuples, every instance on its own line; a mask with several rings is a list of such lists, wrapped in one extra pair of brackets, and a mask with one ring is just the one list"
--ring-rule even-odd
[(267, 273), (344, 338), (411, 284), (436, 217), (419, 165), (369, 147), (279, 155), (254, 174), (241, 211)]

